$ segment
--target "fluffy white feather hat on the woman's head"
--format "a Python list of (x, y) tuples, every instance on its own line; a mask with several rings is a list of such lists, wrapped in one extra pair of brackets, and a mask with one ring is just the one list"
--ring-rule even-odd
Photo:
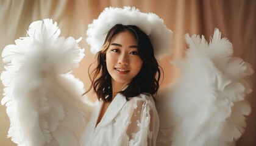
[(149, 36), (156, 58), (161, 59), (171, 53), (172, 31), (166, 28), (163, 19), (154, 13), (142, 13), (135, 7), (105, 8), (98, 19), (88, 25), (87, 43), (91, 52), (96, 54), (101, 50), (108, 31), (116, 24), (139, 27)]

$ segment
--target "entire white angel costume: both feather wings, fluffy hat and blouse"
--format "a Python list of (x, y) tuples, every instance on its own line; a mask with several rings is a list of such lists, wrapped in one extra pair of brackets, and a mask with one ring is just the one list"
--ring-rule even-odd
[[(107, 8), (89, 24), (87, 43), (98, 52), (115, 24), (134, 25), (149, 36), (159, 60), (169, 54), (172, 32), (154, 13)], [(84, 57), (79, 40), (59, 37), (51, 19), (30, 24), (27, 36), (5, 46), (2, 105), (10, 117), (9, 137), (20, 146), (78, 145), (235, 145), (251, 113), (246, 95), (251, 65), (233, 57), (232, 44), (215, 29), (185, 36), (190, 46), (176, 61), (181, 74), (174, 85), (129, 101), (118, 94), (97, 124), (102, 101), (91, 104), (84, 85), (71, 71)], [(92, 109), (93, 108), (93, 109)], [(159, 117), (159, 118), (158, 118)]]

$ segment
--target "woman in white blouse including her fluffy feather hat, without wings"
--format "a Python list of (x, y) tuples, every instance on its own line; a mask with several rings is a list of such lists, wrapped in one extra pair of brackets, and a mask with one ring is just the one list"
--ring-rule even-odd
[(169, 47), (171, 30), (155, 14), (110, 7), (89, 24), (87, 36), (98, 57), (89, 91), (99, 102), (81, 145), (155, 145), (159, 119), (154, 96), (161, 75), (156, 58), (169, 52), (159, 49)]

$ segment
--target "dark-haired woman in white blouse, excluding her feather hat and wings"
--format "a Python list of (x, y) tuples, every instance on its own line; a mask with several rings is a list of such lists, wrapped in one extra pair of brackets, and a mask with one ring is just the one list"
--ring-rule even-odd
[(116, 24), (90, 77), (100, 102), (83, 145), (155, 145), (160, 69), (148, 36), (137, 26)]

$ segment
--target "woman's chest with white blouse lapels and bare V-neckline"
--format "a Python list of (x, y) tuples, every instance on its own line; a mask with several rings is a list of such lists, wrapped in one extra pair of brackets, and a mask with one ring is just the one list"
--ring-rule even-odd
[[(115, 98), (111, 104), (100, 101), (94, 106), (93, 114), (81, 141), (85, 145), (104, 145), (112, 141), (115, 134), (116, 117), (126, 103), (124, 97)], [(96, 144), (97, 143), (97, 144)]]

